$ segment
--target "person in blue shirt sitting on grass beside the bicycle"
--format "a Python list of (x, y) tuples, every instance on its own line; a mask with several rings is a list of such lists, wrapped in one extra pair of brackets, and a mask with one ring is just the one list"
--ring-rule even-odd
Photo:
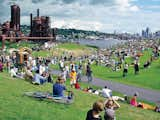
[(66, 90), (66, 87), (63, 85), (64, 78), (58, 76), (56, 83), (53, 85), (53, 97), (64, 97), (63, 91)]

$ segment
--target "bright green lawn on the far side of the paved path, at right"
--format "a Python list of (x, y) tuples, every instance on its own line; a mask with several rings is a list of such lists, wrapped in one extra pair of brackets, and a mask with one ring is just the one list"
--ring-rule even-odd
[[(92, 66), (93, 74), (95, 77), (121, 82), (125, 84), (140, 86), (149, 89), (160, 90), (160, 59), (152, 62), (151, 67), (144, 69), (143, 64), (149, 59), (150, 51), (145, 51), (144, 56), (140, 58), (140, 72), (138, 75), (134, 75), (133, 66), (128, 69), (127, 77), (123, 78), (123, 71), (112, 71), (109, 68), (103, 66)], [(129, 58), (128, 61), (132, 62)], [(128, 63), (130, 63), (128, 62)]]

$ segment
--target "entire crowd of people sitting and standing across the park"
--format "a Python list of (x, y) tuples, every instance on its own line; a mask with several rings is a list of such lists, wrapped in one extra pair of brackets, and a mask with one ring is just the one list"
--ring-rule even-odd
[[(65, 87), (66, 80), (70, 80), (70, 86), (83, 91), (91, 92), (97, 95), (101, 95), (107, 98), (105, 102), (97, 101), (93, 104), (93, 108), (88, 111), (86, 120), (101, 120), (100, 112), (105, 111), (105, 120), (115, 119), (115, 110), (120, 107), (116, 102), (117, 100), (124, 101), (124, 98), (113, 96), (112, 90), (107, 86), (102, 90), (93, 90), (92, 88), (82, 88), (79, 82), (82, 81), (82, 76), (86, 75), (88, 83), (93, 81), (93, 72), (91, 65), (106, 66), (112, 68), (113, 71), (122, 69), (123, 77), (128, 74), (129, 66), (134, 67), (134, 74), (139, 74), (139, 60), (143, 55), (145, 49), (152, 49), (152, 55), (144, 63), (144, 69), (149, 68), (152, 61), (159, 57), (159, 49), (156, 42), (149, 41), (148, 43), (130, 41), (126, 43), (126, 47), (117, 47), (114, 50), (107, 50), (107, 54), (104, 54), (103, 50), (99, 50), (96, 55), (80, 56), (75, 58), (72, 54), (62, 55), (61, 57), (50, 56), (48, 58), (43, 57), (32, 57), (29, 56), (28, 60), (24, 61), (23, 64), (18, 64), (18, 57), (15, 53), (12, 54), (1, 54), (0, 55), (0, 72), (4, 69), (8, 71), (11, 77), (25, 79), (34, 85), (43, 85), (46, 82), (53, 83), (50, 64), (59, 65), (61, 74), (59, 75), (56, 82), (53, 84), (53, 96), (54, 97), (65, 97), (64, 91), (67, 91)], [(45, 45), (46, 47), (47, 45)], [(127, 63), (126, 59), (132, 58), (133, 63)], [(129, 101), (132, 106), (141, 107), (144, 109), (157, 110), (157, 107), (147, 105), (145, 103), (137, 103), (137, 94)]]

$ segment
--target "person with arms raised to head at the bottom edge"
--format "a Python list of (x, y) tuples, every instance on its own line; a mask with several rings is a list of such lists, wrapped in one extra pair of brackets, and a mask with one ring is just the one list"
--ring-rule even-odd
[(104, 114), (104, 119), (105, 120), (115, 120), (115, 110), (120, 108), (120, 105), (113, 100), (112, 98), (109, 98), (108, 100), (105, 101), (105, 114)]

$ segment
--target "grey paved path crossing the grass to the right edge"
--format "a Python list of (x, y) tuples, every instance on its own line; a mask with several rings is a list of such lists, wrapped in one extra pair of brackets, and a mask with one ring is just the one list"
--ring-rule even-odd
[[(60, 71), (52, 71), (53, 74), (60, 74)], [(87, 77), (83, 76), (83, 82), (87, 82)], [(139, 93), (139, 98), (142, 100), (147, 100), (150, 102), (154, 102), (160, 105), (160, 92), (149, 90), (145, 88), (135, 87), (131, 85), (126, 85), (118, 82), (102, 80), (99, 78), (93, 78), (91, 83), (92, 85), (104, 87), (105, 85), (111, 88), (113, 91), (120, 92), (122, 94), (126, 94), (128, 96), (133, 96), (135, 92)]]

